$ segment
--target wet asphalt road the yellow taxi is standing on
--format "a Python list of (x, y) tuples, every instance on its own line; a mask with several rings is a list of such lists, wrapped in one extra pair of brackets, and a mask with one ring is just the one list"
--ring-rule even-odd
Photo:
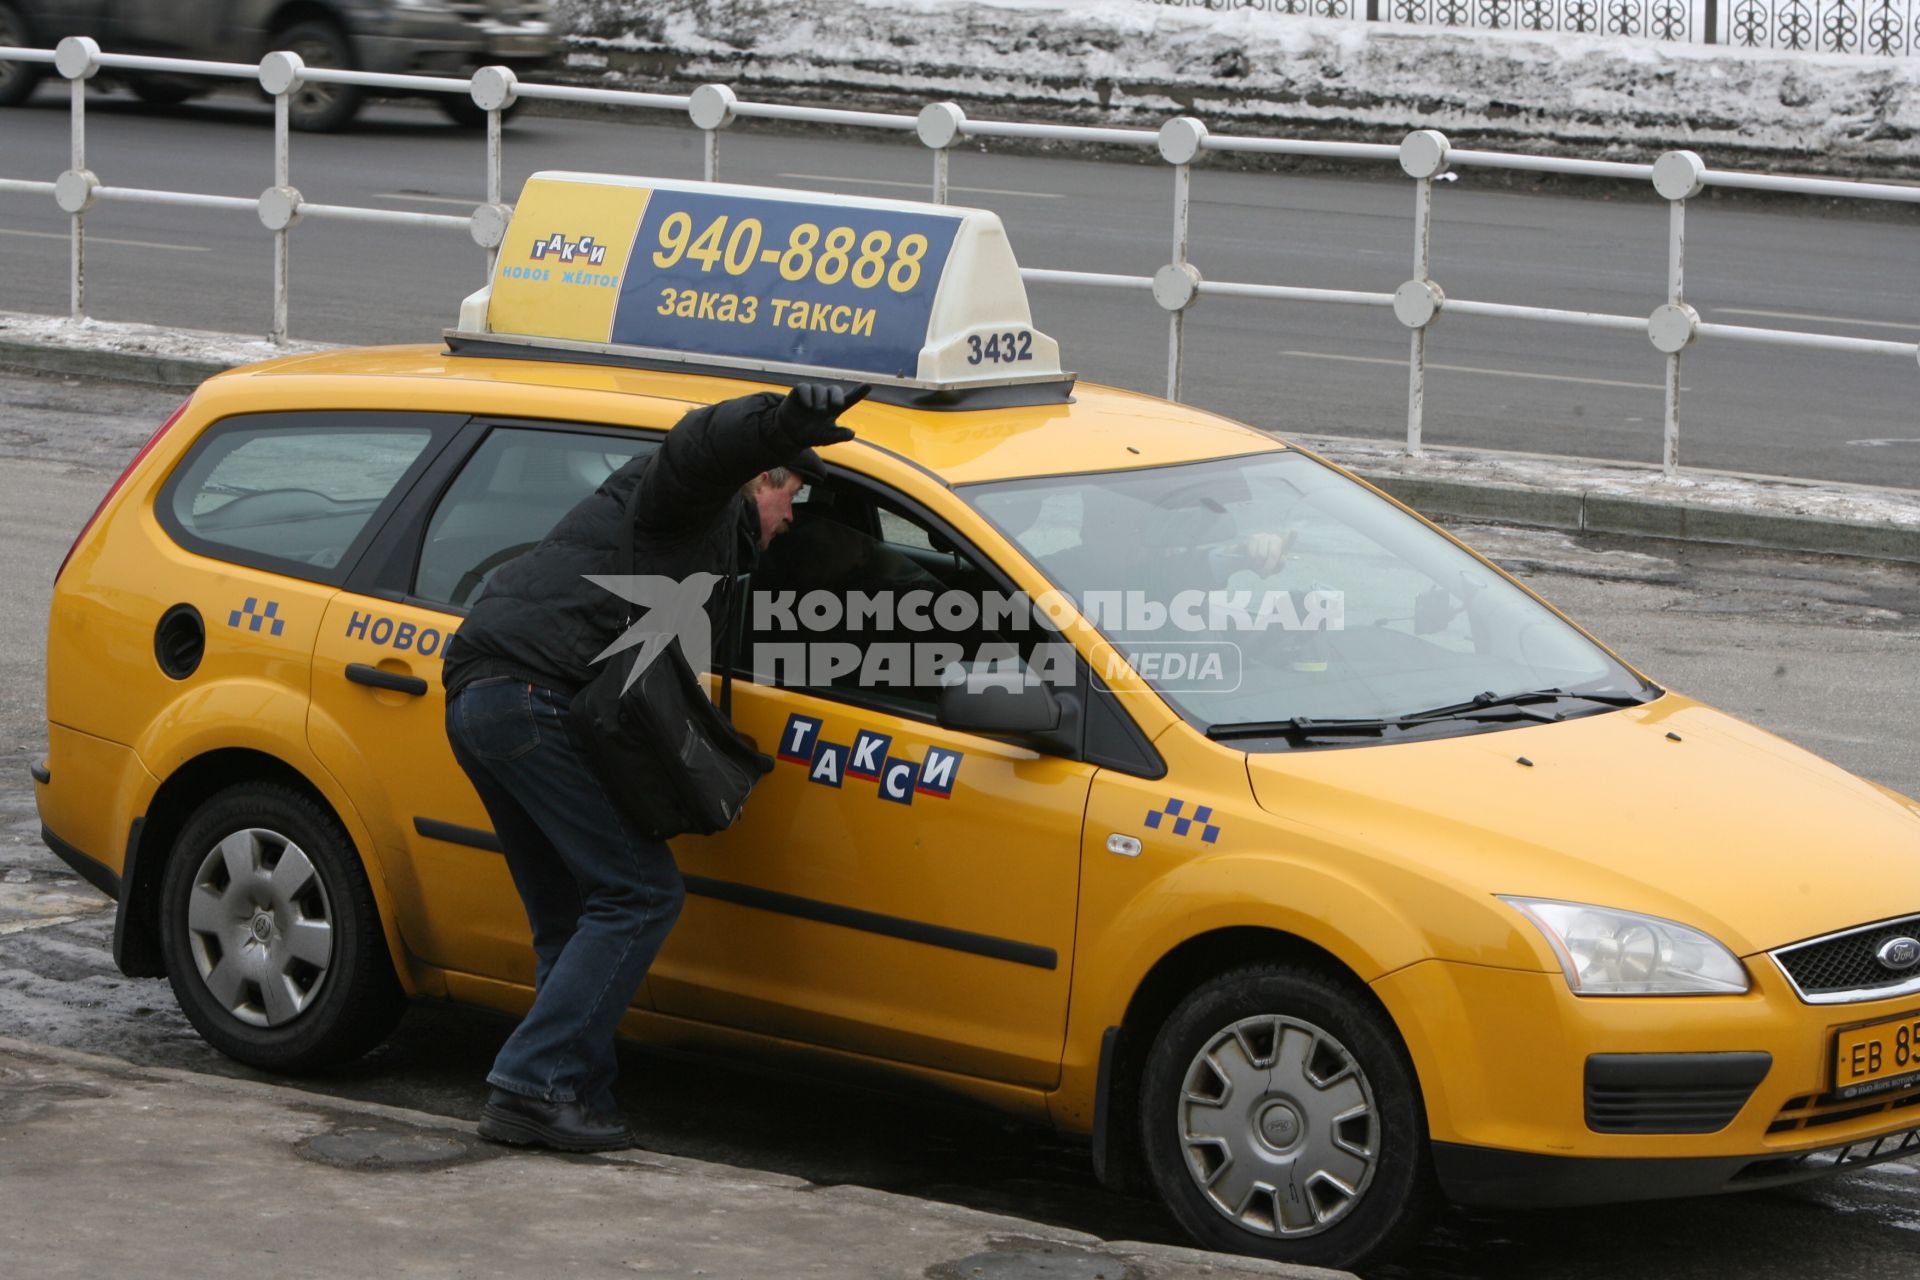
[[(109, 958), (109, 904), (38, 841), (27, 764), (44, 750), (42, 649), (54, 566), (175, 395), (0, 374), (0, 1027), (209, 1075), (163, 981)], [(1920, 794), (1920, 568), (1471, 526), (1475, 545), (1655, 679)], [(301, 1082), (476, 1119), (507, 1021), (417, 1006), (361, 1063)], [(797, 1079), (749, 1059), (622, 1052), (641, 1146), (1014, 1213), (1112, 1240), (1179, 1242), (1148, 1201), (1098, 1188), (1081, 1148), (977, 1111)], [(1920, 1270), (1920, 1163), (1701, 1201), (1555, 1213), (1450, 1211), (1380, 1276), (1511, 1280), (1905, 1278)]]

